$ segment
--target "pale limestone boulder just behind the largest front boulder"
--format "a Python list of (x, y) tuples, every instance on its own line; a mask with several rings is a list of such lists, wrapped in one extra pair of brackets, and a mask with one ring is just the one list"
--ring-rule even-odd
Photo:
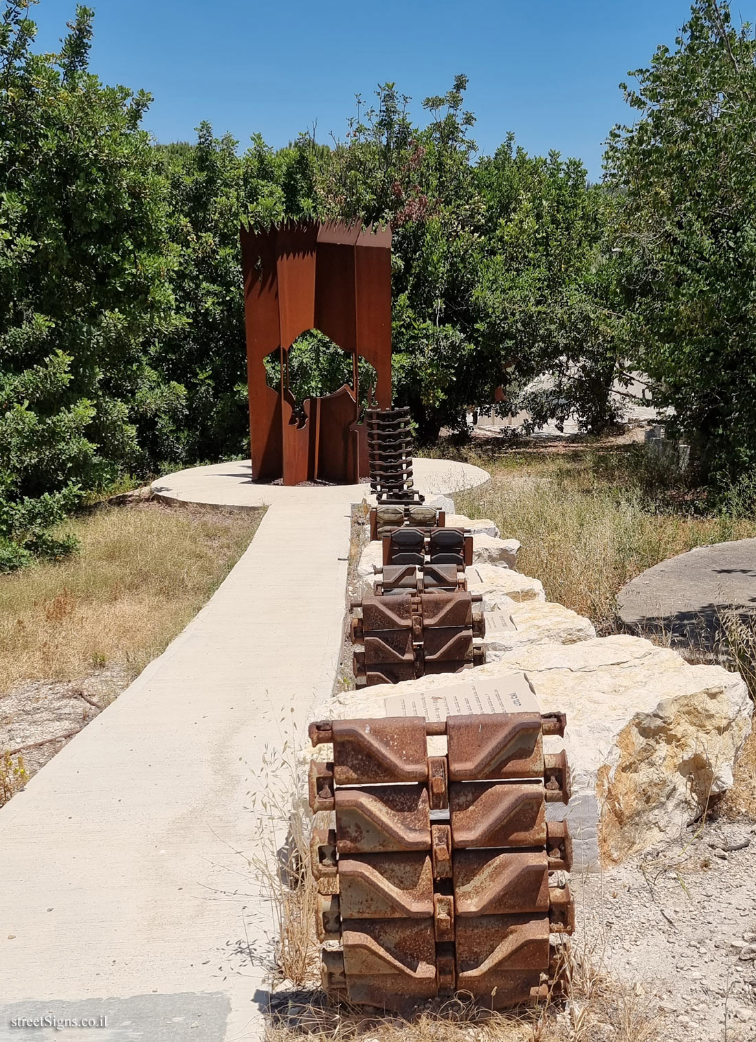
[[(507, 624), (511, 620), (511, 625)], [(502, 623), (505, 623), (504, 625)], [(512, 601), (509, 607), (486, 615), (483, 646), (487, 662), (498, 662), (529, 644), (576, 644), (595, 637), (590, 619), (554, 601)]]

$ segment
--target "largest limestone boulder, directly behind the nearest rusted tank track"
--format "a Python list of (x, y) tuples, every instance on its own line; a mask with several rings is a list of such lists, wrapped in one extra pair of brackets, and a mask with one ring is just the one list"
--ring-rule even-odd
[(335, 716), (384, 716), (384, 699), (523, 670), (541, 712), (567, 715), (564, 740), (572, 778), (568, 807), (576, 868), (598, 870), (660, 842), (684, 842), (685, 826), (732, 785), (735, 758), (751, 729), (753, 704), (738, 673), (691, 666), (668, 648), (618, 635), (575, 644), (531, 644), (497, 662), (342, 692)]

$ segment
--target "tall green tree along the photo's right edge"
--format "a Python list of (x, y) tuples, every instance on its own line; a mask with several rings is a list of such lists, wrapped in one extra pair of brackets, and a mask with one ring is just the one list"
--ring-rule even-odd
[(756, 465), (756, 43), (698, 0), (606, 151), (628, 338), (714, 493)]

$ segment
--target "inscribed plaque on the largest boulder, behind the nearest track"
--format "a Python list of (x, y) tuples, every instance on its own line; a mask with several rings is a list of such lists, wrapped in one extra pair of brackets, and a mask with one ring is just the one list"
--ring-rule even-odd
[(471, 713), (540, 713), (538, 700), (525, 673), (460, 680), (444, 688), (429, 688), (385, 699), (386, 716), (424, 716), (445, 720)]

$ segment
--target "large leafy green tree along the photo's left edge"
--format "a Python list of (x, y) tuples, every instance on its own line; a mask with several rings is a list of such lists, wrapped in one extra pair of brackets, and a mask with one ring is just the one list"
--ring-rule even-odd
[(88, 7), (34, 54), (31, 2), (0, 22), (0, 568), (69, 549), (46, 528), (144, 467), (140, 426), (182, 407), (152, 368), (172, 257), (149, 96), (88, 72)]

